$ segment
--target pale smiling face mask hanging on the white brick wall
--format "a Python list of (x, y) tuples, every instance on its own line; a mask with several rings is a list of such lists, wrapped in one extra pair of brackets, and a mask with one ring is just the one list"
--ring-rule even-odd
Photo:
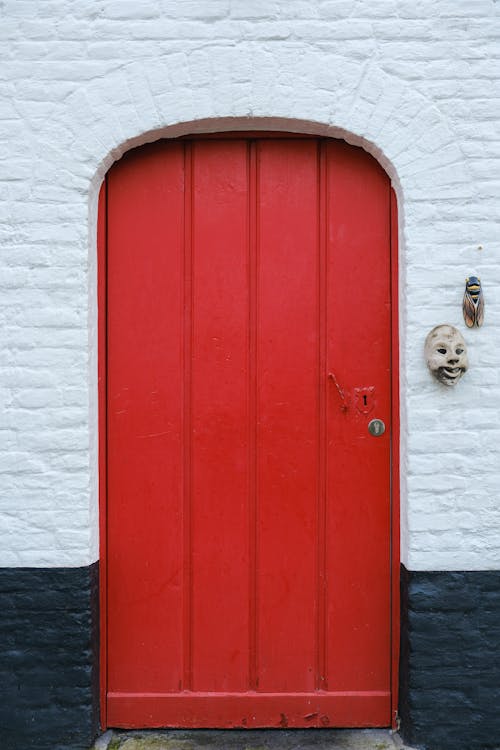
[(443, 385), (456, 385), (469, 367), (467, 347), (460, 331), (450, 325), (432, 329), (425, 339), (425, 359)]

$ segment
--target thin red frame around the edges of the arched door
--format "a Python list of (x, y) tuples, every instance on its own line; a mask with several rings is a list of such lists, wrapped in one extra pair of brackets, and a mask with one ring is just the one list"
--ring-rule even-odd
[[(217, 138), (314, 138), (321, 136), (280, 132), (229, 132), (183, 136), (182, 139)], [(326, 138), (324, 139), (326, 140)], [(140, 147), (139, 147), (140, 148)], [(358, 146), (358, 148), (360, 148)], [(372, 157), (375, 158), (375, 157)], [(398, 206), (394, 188), (390, 198), (390, 286), (391, 286), (391, 717), (399, 728), (400, 651), (400, 429), (399, 429), (399, 273)], [(97, 335), (99, 406), (99, 685), (100, 723), (107, 729), (107, 175), (101, 185), (97, 219)]]

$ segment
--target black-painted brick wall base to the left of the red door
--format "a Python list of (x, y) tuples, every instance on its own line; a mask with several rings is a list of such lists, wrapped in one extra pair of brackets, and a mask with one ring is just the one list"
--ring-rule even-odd
[(88, 750), (98, 731), (98, 565), (0, 569), (0, 747)]

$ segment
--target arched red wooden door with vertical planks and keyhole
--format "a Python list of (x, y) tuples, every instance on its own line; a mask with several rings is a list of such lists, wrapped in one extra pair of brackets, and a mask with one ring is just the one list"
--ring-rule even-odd
[(108, 726), (389, 725), (387, 175), (326, 139), (132, 151), (107, 311)]

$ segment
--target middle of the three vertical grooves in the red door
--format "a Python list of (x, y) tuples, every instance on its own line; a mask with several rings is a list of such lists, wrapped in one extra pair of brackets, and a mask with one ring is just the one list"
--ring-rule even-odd
[(258, 144), (248, 143), (248, 508), (249, 508), (249, 664), (250, 690), (257, 690), (257, 331), (258, 331)]

